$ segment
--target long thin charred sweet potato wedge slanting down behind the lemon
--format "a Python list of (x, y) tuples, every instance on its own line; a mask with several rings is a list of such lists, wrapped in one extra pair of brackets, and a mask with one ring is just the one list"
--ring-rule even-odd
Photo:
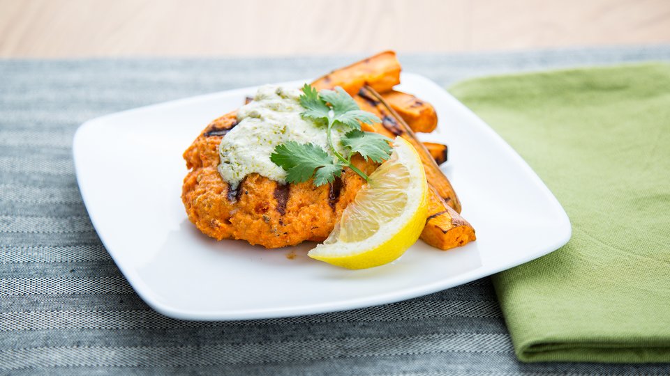
[[(426, 171), (426, 180), (435, 187), (435, 191), (438, 192), (438, 195), (444, 198), (452, 209), (456, 210), (456, 212), (461, 212), (461, 202), (459, 201), (458, 196), (456, 196), (456, 192), (454, 191), (452, 184), (449, 182), (449, 179), (447, 179), (445, 174), (440, 171), (440, 167), (435, 163), (435, 159), (433, 159), (431, 153), (426, 150), (423, 143), (417, 139), (417, 136), (412, 132), (407, 123), (405, 123), (405, 120), (403, 120), (403, 118), (389, 106), (384, 98), (370, 86), (362, 88), (359, 91), (358, 96), (368, 102), (369, 107), (375, 108), (376, 111), (373, 111), (373, 113), (377, 113), (378, 116), (380, 116), (380, 119), (382, 119), (381, 124), (372, 125), (375, 128), (375, 132), (382, 134), (388, 134), (390, 132), (391, 134), (401, 136), (403, 139), (409, 141), (419, 153), (419, 157), (421, 157), (424, 164), (424, 170)], [(381, 127), (385, 128), (385, 131), (381, 130)]]

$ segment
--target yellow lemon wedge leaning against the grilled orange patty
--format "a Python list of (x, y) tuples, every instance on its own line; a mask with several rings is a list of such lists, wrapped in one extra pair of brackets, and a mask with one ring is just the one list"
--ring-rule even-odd
[(426, 224), (428, 184), (414, 147), (396, 137), (391, 157), (369, 178), (309, 257), (365, 269), (396, 260), (419, 239)]

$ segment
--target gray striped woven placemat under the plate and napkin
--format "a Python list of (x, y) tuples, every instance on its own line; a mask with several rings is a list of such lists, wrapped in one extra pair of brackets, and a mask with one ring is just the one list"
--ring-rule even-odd
[[(151, 310), (108, 256), (70, 155), (89, 118), (352, 61), (0, 61), (0, 374), (670, 374), (670, 365), (516, 361), (482, 279), (387, 306), (301, 318), (184, 322)], [(477, 75), (670, 60), (670, 46), (400, 56), (439, 84)]]

